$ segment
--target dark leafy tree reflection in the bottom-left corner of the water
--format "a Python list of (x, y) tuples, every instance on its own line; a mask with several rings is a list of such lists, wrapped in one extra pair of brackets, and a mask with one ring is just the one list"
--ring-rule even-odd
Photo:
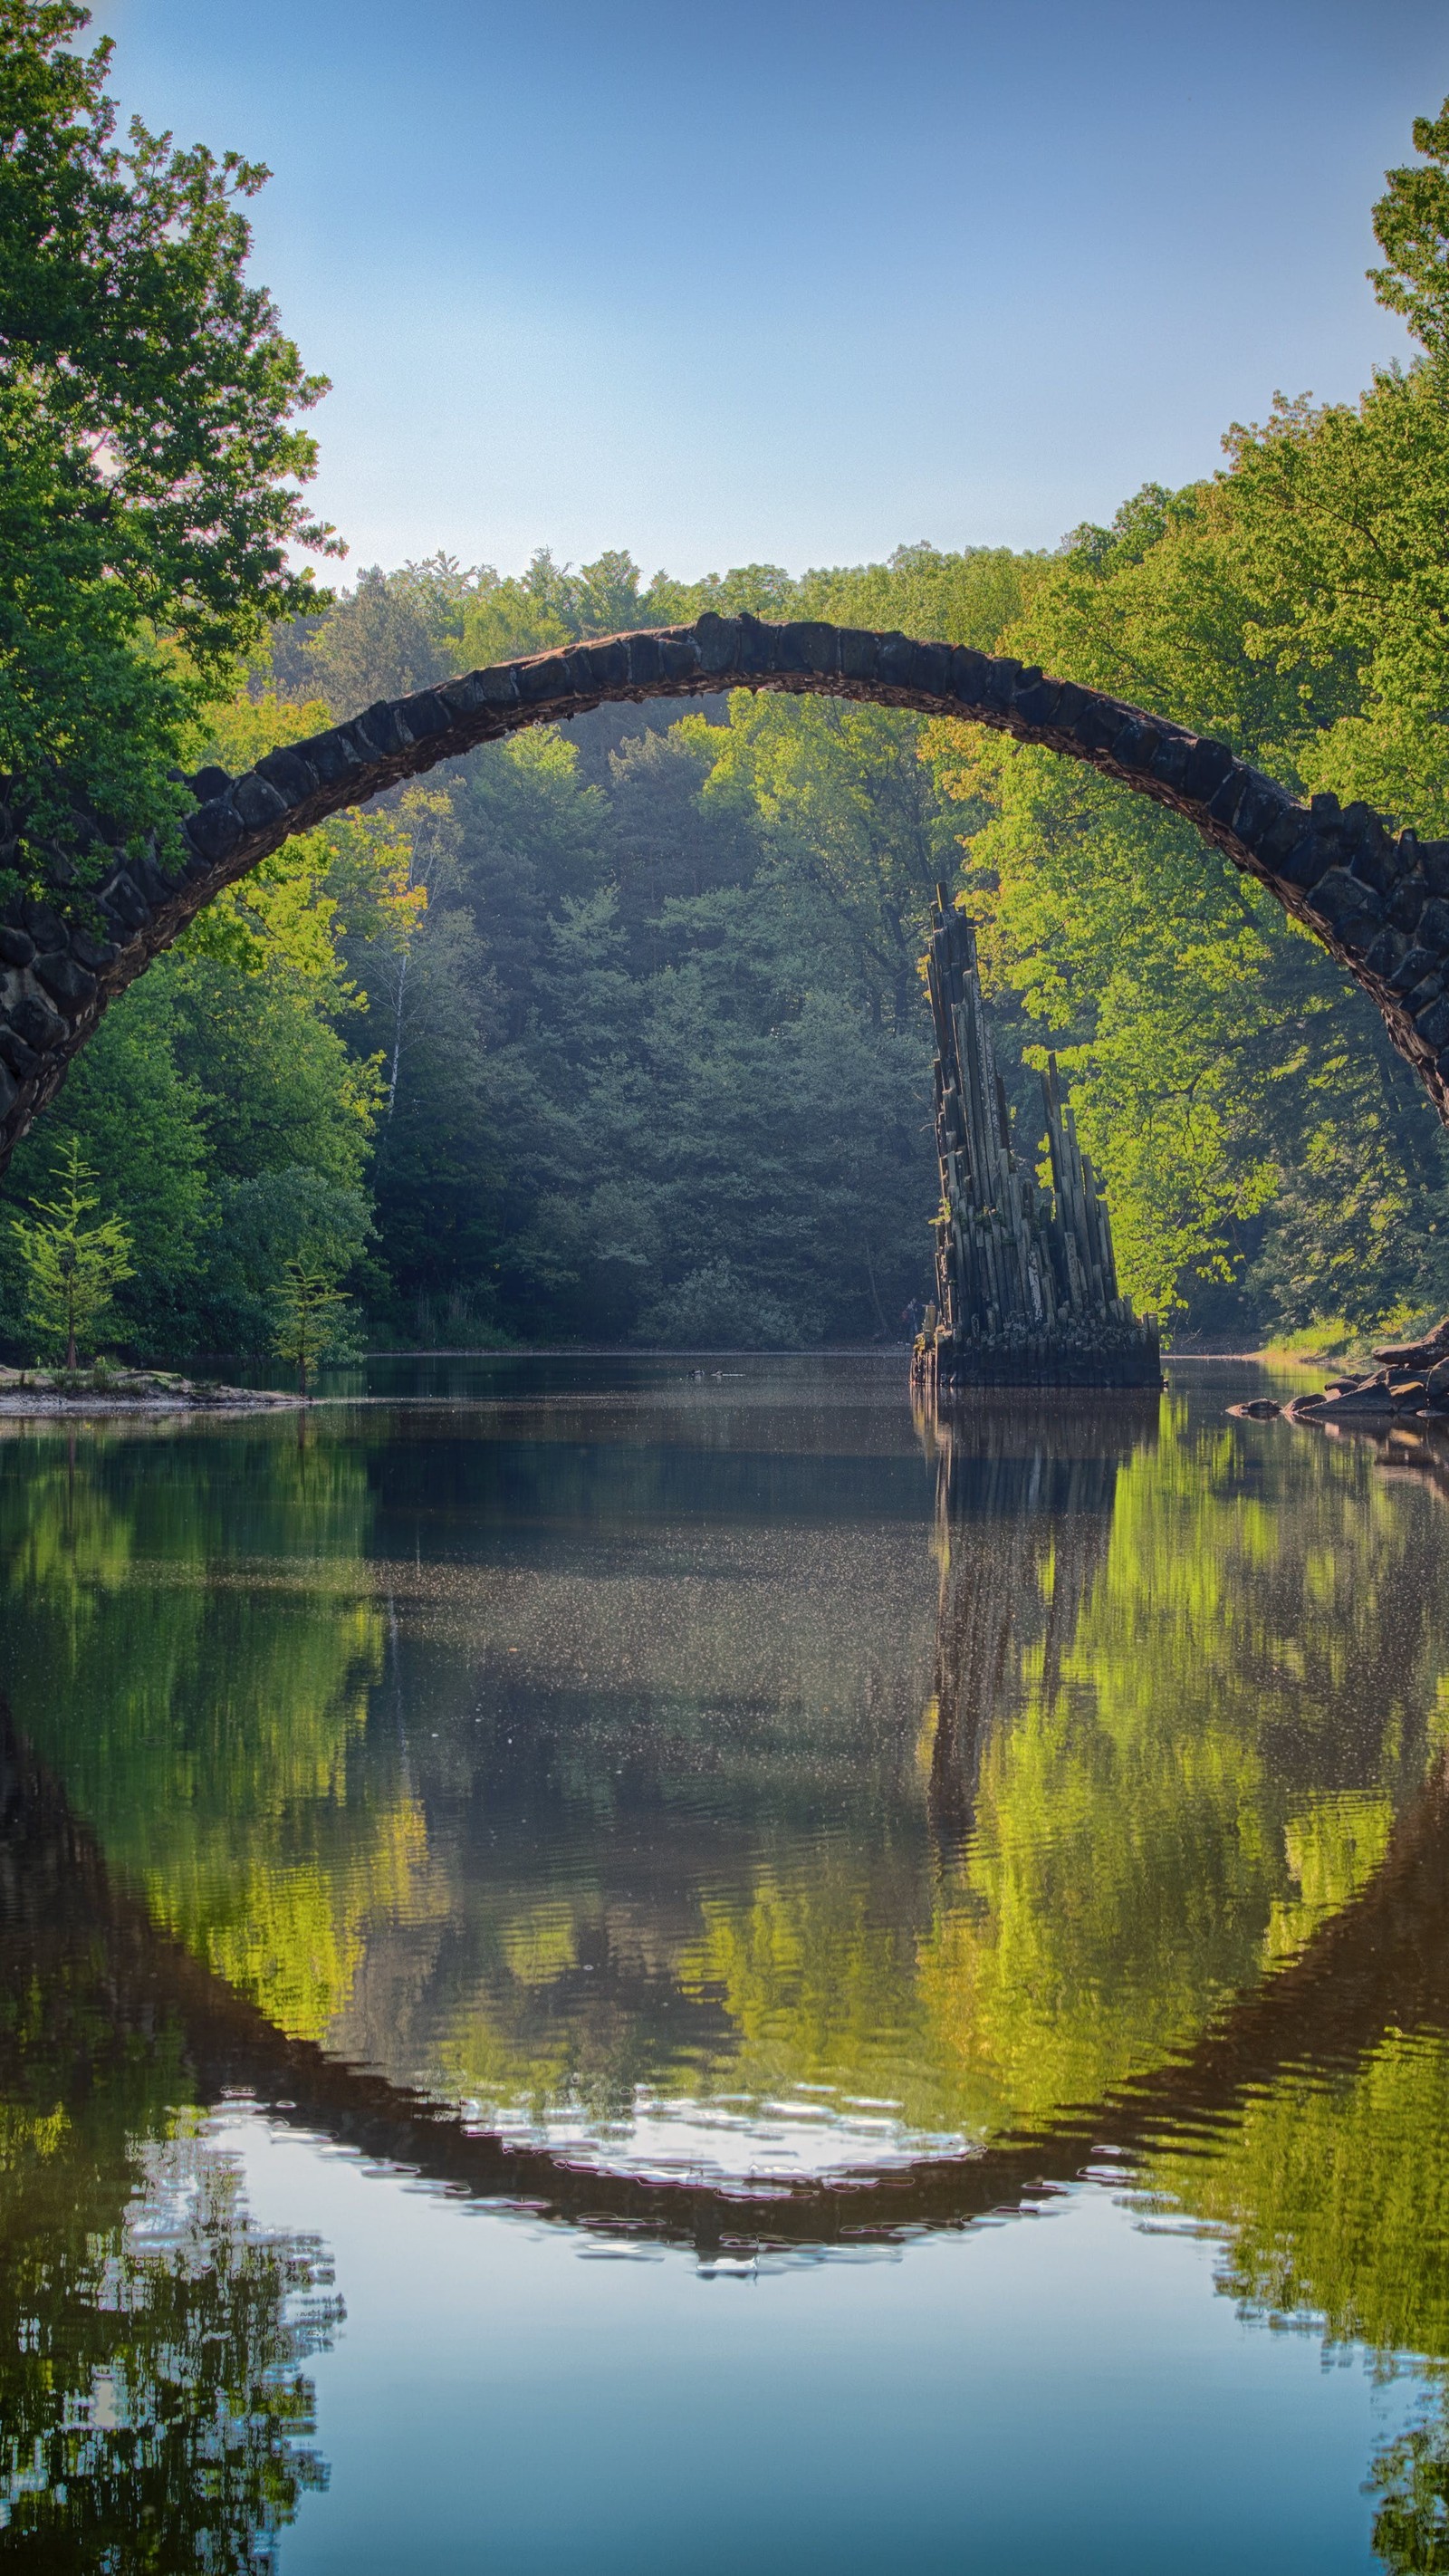
[(0, 1744), (0, 2563), (255, 2568), (324, 2483), (340, 2306), (185, 2112), (185, 2035), (64, 1801)]

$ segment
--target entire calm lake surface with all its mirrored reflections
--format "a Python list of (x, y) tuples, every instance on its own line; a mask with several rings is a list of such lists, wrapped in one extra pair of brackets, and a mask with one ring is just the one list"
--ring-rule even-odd
[(1449, 1481), (1269, 1383), (0, 1425), (0, 2563), (1449, 2566)]

